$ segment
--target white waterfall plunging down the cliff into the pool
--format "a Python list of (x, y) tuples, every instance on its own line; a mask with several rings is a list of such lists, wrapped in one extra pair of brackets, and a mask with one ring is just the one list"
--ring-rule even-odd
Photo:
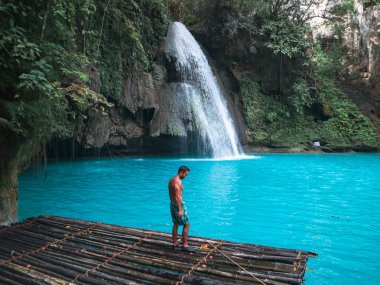
[(182, 23), (170, 24), (165, 52), (174, 63), (177, 84), (182, 86), (183, 94), (177, 97), (187, 97), (203, 144), (216, 158), (242, 155), (218, 81), (201, 47)]

